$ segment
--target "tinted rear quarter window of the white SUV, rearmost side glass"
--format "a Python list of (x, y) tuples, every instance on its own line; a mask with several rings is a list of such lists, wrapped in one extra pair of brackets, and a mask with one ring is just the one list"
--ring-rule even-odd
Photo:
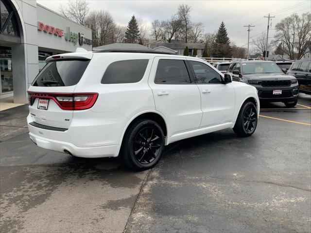
[(137, 83), (145, 74), (148, 59), (124, 60), (111, 63), (101, 83)]

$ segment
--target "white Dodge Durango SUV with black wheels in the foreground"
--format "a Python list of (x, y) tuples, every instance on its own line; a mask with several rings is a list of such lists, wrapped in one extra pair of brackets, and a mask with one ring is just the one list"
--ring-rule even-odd
[(175, 141), (233, 128), (255, 132), (257, 90), (207, 62), (156, 51), (79, 51), (47, 58), (29, 88), (30, 138), (72, 156), (116, 157), (134, 169)]

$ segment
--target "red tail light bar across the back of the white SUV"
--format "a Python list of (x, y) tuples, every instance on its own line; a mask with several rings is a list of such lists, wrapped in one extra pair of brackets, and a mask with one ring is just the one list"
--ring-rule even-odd
[(64, 110), (85, 110), (91, 108), (97, 100), (98, 93), (43, 93), (28, 92), (29, 104), (33, 105), (35, 98), (52, 99)]

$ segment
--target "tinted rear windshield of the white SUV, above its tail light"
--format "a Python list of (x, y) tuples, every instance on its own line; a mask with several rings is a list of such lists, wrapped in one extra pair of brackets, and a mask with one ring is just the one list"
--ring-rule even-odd
[(79, 83), (90, 60), (49, 62), (37, 75), (33, 86), (72, 86)]

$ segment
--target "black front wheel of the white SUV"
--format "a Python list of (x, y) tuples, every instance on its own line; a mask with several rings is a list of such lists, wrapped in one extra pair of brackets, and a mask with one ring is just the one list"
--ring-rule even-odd
[(246, 101), (242, 104), (233, 131), (239, 136), (248, 137), (255, 132), (257, 123), (256, 105), (253, 102)]

